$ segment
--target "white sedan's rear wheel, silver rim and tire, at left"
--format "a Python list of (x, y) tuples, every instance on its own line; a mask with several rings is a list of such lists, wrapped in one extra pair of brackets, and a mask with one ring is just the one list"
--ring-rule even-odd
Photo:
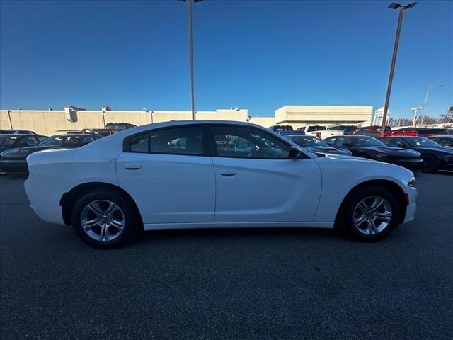
[(126, 244), (136, 234), (139, 225), (134, 205), (108, 189), (81, 196), (72, 210), (71, 222), (74, 232), (83, 242), (102, 249)]

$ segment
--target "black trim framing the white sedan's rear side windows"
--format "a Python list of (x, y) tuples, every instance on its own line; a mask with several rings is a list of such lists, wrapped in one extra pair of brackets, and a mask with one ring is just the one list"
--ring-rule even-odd
[[(163, 128), (155, 128), (151, 130), (146, 130), (142, 132), (134, 133), (134, 135), (129, 135), (122, 140), (122, 152), (128, 152), (133, 154), (170, 154), (175, 156), (193, 156), (193, 157), (210, 157), (210, 153), (207, 152), (208, 145), (207, 145), (207, 137), (205, 136), (205, 130), (203, 129), (205, 124), (182, 124), (182, 125), (174, 125), (174, 126), (165, 126)], [(181, 152), (151, 152), (151, 132), (158, 132), (162, 130), (170, 130), (170, 129), (177, 129), (177, 128), (200, 128), (201, 132), (201, 139), (202, 139), (202, 154), (185, 154)], [(130, 150), (130, 140), (132, 138), (137, 137), (139, 135), (147, 134), (148, 136), (148, 151), (131, 151)]]

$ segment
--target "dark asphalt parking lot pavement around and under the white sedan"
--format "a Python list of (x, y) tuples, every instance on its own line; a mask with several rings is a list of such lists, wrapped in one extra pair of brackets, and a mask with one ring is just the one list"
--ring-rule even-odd
[[(0, 176), (1, 339), (452, 339), (453, 173), (419, 174), (413, 222), (148, 232), (91, 249)], [(45, 199), (45, 193), (42, 193)]]

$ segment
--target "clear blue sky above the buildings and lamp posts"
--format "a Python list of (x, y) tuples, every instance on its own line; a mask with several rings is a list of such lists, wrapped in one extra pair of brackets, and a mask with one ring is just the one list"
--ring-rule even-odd
[[(216, 1), (193, 5), (197, 110), (384, 105), (391, 1)], [(190, 110), (187, 4), (1, 1), (1, 108)], [(406, 11), (391, 111), (453, 106), (453, 1)]]

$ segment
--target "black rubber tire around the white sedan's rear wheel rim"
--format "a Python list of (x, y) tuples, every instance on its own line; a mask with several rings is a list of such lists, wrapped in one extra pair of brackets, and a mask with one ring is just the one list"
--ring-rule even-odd
[[(89, 203), (93, 203), (96, 200), (105, 200), (115, 203), (115, 205), (120, 208), (122, 215), (124, 215), (124, 226), (122, 231), (117, 231), (119, 235), (109, 241), (93, 239), (93, 237), (89, 236), (81, 226), (81, 214), (84, 211), (84, 208), (86, 208)], [(137, 209), (129, 198), (111, 189), (101, 188), (84, 194), (84, 196), (81, 196), (76, 201), (71, 213), (71, 224), (76, 235), (84, 243), (98, 249), (112, 249), (124, 246), (137, 234), (140, 229), (140, 219), (137, 214)]]

